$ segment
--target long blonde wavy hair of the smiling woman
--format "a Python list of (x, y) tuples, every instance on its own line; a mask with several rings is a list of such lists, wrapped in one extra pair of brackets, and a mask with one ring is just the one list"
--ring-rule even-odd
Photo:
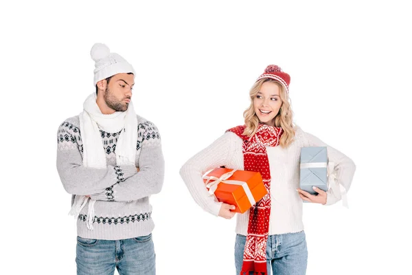
[(285, 87), (276, 80), (271, 78), (262, 78), (258, 80), (251, 88), (249, 92), (249, 96), (251, 97), (251, 105), (248, 109), (243, 112), (244, 116), (244, 124), (246, 124), (246, 128), (244, 129), (243, 135), (247, 135), (248, 137), (253, 136), (256, 131), (258, 130), (259, 125), (259, 118), (258, 115), (255, 113), (255, 108), (253, 106), (253, 100), (255, 96), (260, 91), (260, 87), (262, 87), (263, 83), (271, 82), (275, 83), (279, 87), (279, 96), (282, 100), (282, 106), (279, 109), (279, 113), (275, 116), (275, 126), (282, 127), (284, 133), (280, 138), (280, 146), (287, 147), (290, 143), (293, 142), (293, 137), (295, 137), (295, 130), (293, 125), (293, 111), (290, 105), (290, 98), (288, 96), (288, 92), (286, 91)]

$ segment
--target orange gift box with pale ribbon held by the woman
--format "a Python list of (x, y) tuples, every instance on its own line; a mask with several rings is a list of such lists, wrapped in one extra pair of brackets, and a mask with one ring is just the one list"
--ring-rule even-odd
[(268, 193), (259, 172), (214, 168), (203, 181), (218, 201), (236, 206), (233, 212), (246, 212)]

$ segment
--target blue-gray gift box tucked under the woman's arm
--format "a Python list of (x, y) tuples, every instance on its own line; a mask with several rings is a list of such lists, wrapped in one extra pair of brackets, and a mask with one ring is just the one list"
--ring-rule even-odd
[(325, 146), (301, 148), (300, 188), (315, 195), (313, 186), (328, 191), (328, 150)]

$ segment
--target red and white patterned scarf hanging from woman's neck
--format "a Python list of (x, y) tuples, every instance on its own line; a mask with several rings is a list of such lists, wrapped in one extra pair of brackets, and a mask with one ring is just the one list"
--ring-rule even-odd
[(268, 241), (269, 217), (271, 215), (271, 171), (266, 146), (279, 145), (282, 128), (259, 124), (252, 137), (243, 135), (245, 126), (236, 126), (227, 131), (236, 133), (243, 140), (244, 170), (260, 172), (268, 194), (250, 209), (243, 265), (240, 274), (268, 274), (266, 270), (266, 243)]

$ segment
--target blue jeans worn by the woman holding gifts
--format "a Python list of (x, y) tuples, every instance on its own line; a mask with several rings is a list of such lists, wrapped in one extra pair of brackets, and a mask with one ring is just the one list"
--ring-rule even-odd
[[(240, 274), (243, 264), (246, 236), (237, 234), (235, 245), (236, 275)], [(266, 266), (268, 274), (304, 275), (308, 265), (308, 248), (305, 232), (269, 235), (266, 245)], [(253, 274), (252, 272), (250, 274)]]

